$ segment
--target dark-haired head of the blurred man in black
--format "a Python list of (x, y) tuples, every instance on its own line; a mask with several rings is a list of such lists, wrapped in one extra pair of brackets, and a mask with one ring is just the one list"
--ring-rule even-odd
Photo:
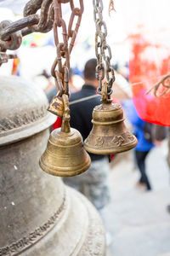
[(84, 66), (84, 80), (86, 84), (92, 84), (94, 87), (99, 86), (99, 81), (96, 79), (95, 73), (96, 73), (96, 66), (97, 66), (97, 60), (96, 59), (90, 59), (86, 62)]

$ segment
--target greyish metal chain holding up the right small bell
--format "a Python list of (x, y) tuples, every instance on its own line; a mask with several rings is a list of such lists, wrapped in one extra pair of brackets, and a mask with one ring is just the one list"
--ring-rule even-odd
[[(102, 94), (102, 81), (107, 81), (107, 96), (111, 97), (112, 84), (115, 81), (114, 69), (111, 67), (111, 47), (106, 44), (107, 27), (103, 20), (102, 0), (93, 0), (95, 32), (95, 54), (97, 58), (96, 78), (99, 80), (99, 94)], [(104, 65), (105, 62), (105, 65)]]

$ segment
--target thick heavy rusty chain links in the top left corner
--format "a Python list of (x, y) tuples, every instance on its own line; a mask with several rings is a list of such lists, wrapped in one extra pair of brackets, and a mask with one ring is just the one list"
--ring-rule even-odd
[[(41, 9), (41, 14), (37, 11)], [(11, 22), (3, 20), (0, 23), (0, 66), (15, 55), (8, 55), (7, 49), (18, 49), (22, 37), (31, 32), (48, 32), (53, 28), (53, 0), (31, 0), (26, 3), (24, 18)]]

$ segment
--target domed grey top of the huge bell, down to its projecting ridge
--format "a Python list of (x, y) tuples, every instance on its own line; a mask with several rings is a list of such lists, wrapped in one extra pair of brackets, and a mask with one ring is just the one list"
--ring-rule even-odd
[[(26, 84), (26, 90), (23, 84)], [(33, 87), (25, 79), (1, 76), (0, 92), (1, 145), (30, 137), (54, 123), (56, 117), (48, 113), (48, 101), (42, 90)]]

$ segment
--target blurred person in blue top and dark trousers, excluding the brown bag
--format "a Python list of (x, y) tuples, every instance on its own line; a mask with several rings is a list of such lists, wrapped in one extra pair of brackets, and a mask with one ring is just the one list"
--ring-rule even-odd
[(144, 137), (144, 123), (145, 121), (139, 118), (139, 115), (133, 105), (132, 100), (127, 100), (122, 103), (122, 107), (125, 108), (127, 113), (127, 119), (133, 125), (133, 134), (138, 139), (138, 144), (134, 148), (134, 155), (136, 164), (139, 168), (140, 178), (138, 185), (144, 186), (147, 190), (151, 189), (149, 178), (146, 174), (145, 159), (149, 154), (150, 149), (155, 145)]

